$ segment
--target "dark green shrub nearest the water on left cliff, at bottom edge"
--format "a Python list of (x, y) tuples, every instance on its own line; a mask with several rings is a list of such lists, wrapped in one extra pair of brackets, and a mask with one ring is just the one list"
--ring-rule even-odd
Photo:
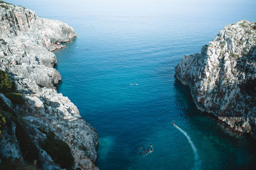
[(41, 147), (51, 156), (54, 162), (60, 164), (61, 168), (71, 169), (74, 165), (74, 158), (67, 143), (56, 138), (54, 132), (50, 131), (46, 136), (47, 138), (41, 144)]

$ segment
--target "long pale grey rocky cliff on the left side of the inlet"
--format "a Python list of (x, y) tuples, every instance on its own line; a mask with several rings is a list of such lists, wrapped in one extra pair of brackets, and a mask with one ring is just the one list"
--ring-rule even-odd
[(97, 132), (81, 118), (68, 97), (56, 91), (61, 75), (54, 69), (57, 60), (52, 51), (63, 48), (65, 45), (60, 43), (76, 37), (76, 32), (61, 21), (38, 17), (34, 11), (2, 1), (0, 20), (0, 69), (9, 74), (16, 92), (24, 99), (23, 104), (16, 104), (0, 94), (1, 106), (8, 108), (0, 111), (15, 113), (1, 131), (1, 157), (23, 161), (27, 156), (17, 133), (22, 124), (26, 125), (24, 133), (39, 150), (37, 162), (43, 169), (61, 167), (52, 156), (54, 153), (51, 155), (44, 149), (47, 146), (42, 147), (50, 139), (67, 143), (74, 159), (72, 168), (97, 169)]

